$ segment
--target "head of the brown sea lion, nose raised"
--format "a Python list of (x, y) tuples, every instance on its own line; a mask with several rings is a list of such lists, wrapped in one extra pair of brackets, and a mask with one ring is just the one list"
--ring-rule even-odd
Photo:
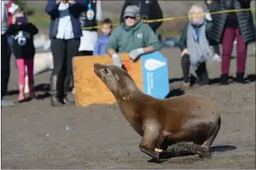
[(118, 66), (95, 63), (94, 72), (112, 93), (137, 89), (130, 75)]

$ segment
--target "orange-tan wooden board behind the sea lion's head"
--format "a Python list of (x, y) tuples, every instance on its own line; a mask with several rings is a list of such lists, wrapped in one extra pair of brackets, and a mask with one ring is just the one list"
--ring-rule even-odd
[[(138, 59), (133, 62), (128, 54), (119, 54), (128, 74), (134, 79), (139, 89), (143, 89), (142, 62)], [(73, 75), (76, 90), (76, 105), (87, 106), (89, 104), (113, 104), (114, 96), (107, 86), (97, 77), (93, 71), (95, 62), (113, 64), (109, 55), (76, 56), (73, 58)]]

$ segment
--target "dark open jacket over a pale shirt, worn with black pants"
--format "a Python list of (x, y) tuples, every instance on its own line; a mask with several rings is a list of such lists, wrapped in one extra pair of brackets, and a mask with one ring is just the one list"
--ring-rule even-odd
[[(56, 36), (58, 31), (58, 24), (60, 20), (60, 13), (58, 10), (59, 4), (56, 4), (56, 0), (48, 0), (45, 7), (45, 13), (48, 13), (51, 17), (49, 38), (52, 39)], [(69, 4), (69, 13), (72, 21), (72, 28), (74, 33), (74, 38), (80, 38), (82, 36), (82, 29), (80, 26), (80, 13), (87, 8), (87, 1), (76, 1), (76, 4)]]

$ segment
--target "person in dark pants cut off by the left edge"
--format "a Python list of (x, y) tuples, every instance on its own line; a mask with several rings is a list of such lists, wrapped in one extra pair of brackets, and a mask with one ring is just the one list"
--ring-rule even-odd
[(13, 106), (14, 102), (4, 100), (10, 78), (10, 47), (7, 41), (7, 1), (1, 1), (1, 106)]

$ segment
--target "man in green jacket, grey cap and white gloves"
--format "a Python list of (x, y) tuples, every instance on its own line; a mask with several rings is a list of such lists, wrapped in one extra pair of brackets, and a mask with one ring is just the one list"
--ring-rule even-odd
[(114, 29), (106, 46), (107, 54), (119, 67), (122, 67), (122, 61), (118, 53), (129, 53), (130, 59), (135, 60), (161, 48), (152, 28), (141, 20), (138, 6), (127, 6), (123, 17), (125, 21)]

